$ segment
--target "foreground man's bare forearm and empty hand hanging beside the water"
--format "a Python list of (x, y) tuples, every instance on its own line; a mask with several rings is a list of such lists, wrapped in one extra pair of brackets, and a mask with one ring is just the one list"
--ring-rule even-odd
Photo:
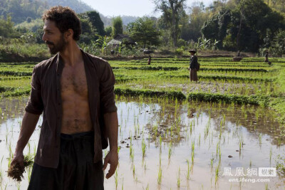
[(107, 164), (110, 164), (110, 169), (106, 178), (113, 176), (118, 166), (118, 115), (117, 112), (107, 112), (104, 114), (105, 129), (108, 135), (110, 152), (104, 159), (103, 170), (106, 169)]

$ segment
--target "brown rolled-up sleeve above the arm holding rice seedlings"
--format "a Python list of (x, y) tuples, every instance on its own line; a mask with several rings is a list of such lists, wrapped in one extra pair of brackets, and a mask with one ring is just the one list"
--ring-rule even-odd
[(33, 75), (31, 79), (31, 95), (25, 107), (26, 112), (41, 115), (43, 112), (43, 100), (41, 97), (41, 83), (37, 76), (37, 66), (33, 68)]

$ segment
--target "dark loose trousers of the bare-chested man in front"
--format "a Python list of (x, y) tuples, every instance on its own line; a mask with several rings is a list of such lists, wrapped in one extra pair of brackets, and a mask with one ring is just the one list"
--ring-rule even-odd
[(33, 164), (28, 190), (104, 189), (103, 162), (93, 163), (94, 134), (61, 134), (58, 168)]

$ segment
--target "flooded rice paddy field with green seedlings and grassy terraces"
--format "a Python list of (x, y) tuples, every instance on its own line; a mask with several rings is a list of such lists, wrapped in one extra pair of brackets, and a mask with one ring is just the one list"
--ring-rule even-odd
[[(270, 61), (199, 58), (191, 83), (189, 58), (110, 60), (120, 160), (105, 189), (284, 189), (285, 58)], [(6, 171), (35, 64), (0, 63), (1, 189), (26, 189), (31, 176)], [(36, 153), (41, 122), (24, 154)]]

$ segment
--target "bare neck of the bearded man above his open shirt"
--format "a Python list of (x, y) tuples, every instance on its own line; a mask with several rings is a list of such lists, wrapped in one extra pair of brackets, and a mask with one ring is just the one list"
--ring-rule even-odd
[(77, 63), (81, 63), (83, 60), (81, 50), (78, 48), (75, 42), (67, 44), (66, 48), (59, 52), (59, 55), (63, 59), (63, 62), (71, 67)]

